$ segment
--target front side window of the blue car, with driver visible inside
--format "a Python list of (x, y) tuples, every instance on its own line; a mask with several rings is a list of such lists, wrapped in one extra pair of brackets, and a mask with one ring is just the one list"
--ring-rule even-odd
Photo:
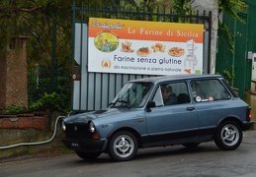
[[(160, 98), (161, 101), (156, 101), (155, 97)], [(184, 82), (162, 84), (154, 96), (154, 101), (156, 105), (158, 105), (157, 102), (161, 102), (161, 105), (164, 106), (189, 103), (188, 87)]]

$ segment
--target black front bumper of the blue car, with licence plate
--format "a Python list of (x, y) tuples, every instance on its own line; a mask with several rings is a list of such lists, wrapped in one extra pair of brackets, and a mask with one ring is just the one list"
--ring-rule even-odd
[(102, 152), (105, 144), (105, 140), (62, 139), (61, 142), (67, 148), (86, 152)]

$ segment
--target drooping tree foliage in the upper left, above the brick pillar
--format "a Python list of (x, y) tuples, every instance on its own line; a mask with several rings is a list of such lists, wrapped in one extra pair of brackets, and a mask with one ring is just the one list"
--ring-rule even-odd
[[(71, 54), (71, 18), (69, 1), (2, 0), (0, 49), (9, 49), (14, 36), (28, 35), (31, 37), (28, 60), (47, 65), (51, 62), (52, 43), (56, 37), (56, 55), (64, 62)], [(57, 28), (56, 33), (54, 27)]]

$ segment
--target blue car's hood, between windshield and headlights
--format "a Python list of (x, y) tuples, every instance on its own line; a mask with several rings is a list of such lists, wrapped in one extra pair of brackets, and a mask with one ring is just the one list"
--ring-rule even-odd
[(90, 120), (99, 119), (99, 118), (107, 118), (120, 115), (124, 112), (129, 112), (130, 109), (117, 109), (117, 108), (110, 108), (110, 109), (102, 109), (97, 111), (85, 112), (80, 113), (72, 116), (68, 116), (63, 118), (65, 123), (87, 123)]

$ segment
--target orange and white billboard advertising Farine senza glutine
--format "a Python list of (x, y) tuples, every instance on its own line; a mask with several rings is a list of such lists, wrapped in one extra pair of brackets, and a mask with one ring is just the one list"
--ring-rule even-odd
[(88, 71), (203, 73), (204, 25), (90, 18)]

